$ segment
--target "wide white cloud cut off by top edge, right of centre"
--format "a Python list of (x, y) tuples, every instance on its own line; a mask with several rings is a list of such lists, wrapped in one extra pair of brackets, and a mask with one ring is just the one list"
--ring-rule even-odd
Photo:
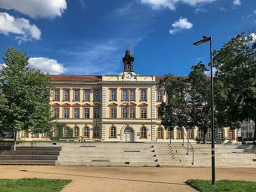
[(141, 0), (141, 3), (151, 5), (152, 9), (161, 9), (162, 7), (170, 10), (176, 9), (176, 4), (185, 3), (190, 6), (196, 6), (203, 3), (211, 3), (216, 0)]

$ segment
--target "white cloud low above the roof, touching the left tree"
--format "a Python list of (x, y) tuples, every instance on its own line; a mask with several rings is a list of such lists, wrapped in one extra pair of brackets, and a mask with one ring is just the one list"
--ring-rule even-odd
[(58, 63), (57, 60), (49, 58), (29, 58), (28, 67), (38, 69), (43, 73), (49, 74), (63, 74), (67, 70), (61, 63)]

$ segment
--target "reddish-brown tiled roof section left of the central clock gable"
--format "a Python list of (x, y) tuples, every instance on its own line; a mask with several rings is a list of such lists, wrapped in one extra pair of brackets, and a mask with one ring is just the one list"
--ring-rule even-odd
[(46, 75), (51, 81), (67, 82), (98, 82), (102, 80), (101, 75)]

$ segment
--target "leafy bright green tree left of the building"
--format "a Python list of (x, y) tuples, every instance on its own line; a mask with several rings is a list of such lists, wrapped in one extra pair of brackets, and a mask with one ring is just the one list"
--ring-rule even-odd
[(52, 85), (40, 71), (28, 67), (27, 53), (14, 47), (4, 53), (1, 70), (3, 92), (0, 101), (1, 129), (14, 132), (14, 150), (18, 131), (49, 131), (52, 121), (50, 95)]

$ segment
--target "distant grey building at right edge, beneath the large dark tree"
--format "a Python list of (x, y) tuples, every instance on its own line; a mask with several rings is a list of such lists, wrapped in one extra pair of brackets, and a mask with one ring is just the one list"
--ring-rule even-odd
[(255, 130), (255, 122), (252, 119), (243, 121), (241, 125), (242, 142), (252, 141)]

